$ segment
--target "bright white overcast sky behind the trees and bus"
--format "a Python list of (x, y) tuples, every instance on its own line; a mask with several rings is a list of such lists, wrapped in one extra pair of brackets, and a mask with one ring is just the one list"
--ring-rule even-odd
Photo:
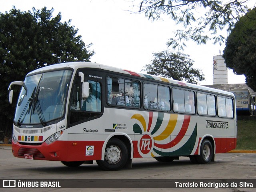
[[(0, 12), (5, 13), (15, 6), (21, 11), (41, 9), (46, 6), (54, 8), (53, 16), (61, 12), (62, 22), (71, 20), (71, 25), (78, 28), (85, 44), (95, 54), (92, 62), (141, 72), (150, 64), (154, 52), (167, 50), (166, 42), (174, 37), (176, 26), (169, 18), (152, 22), (144, 14), (134, 14), (131, 0), (0, 0)], [(248, 6), (255, 6), (249, 0)], [(197, 45), (186, 42), (183, 53), (194, 60), (194, 68), (202, 70), (206, 80), (201, 85), (212, 84), (213, 56), (219, 55), (225, 48), (223, 44)], [(173, 50), (169, 47), (170, 51)], [(245, 83), (244, 75), (235, 75), (228, 70), (228, 84)]]

